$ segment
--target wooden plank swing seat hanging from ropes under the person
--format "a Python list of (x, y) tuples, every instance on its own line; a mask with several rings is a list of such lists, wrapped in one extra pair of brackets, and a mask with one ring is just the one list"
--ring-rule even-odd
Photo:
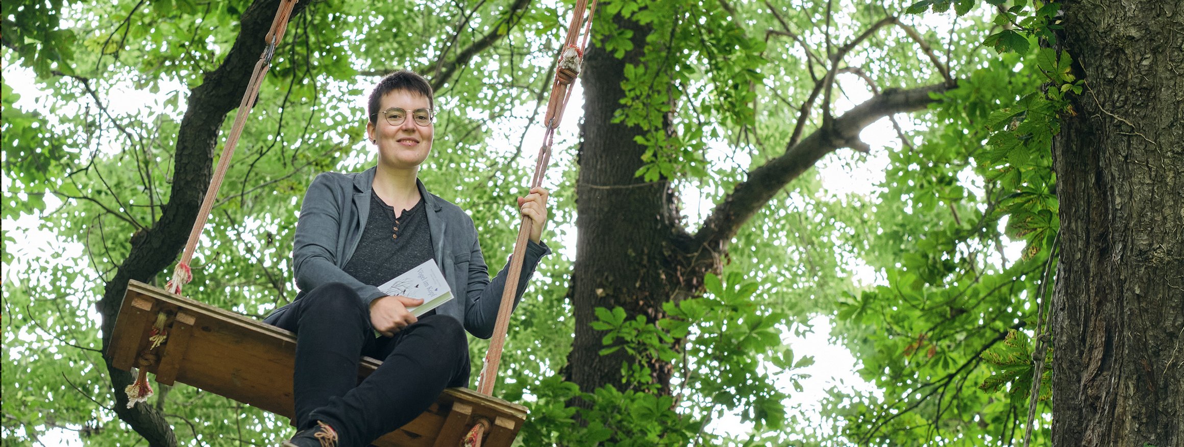
[[(155, 349), (148, 339), (156, 317), (167, 317), (168, 337)], [(141, 354), (150, 352), (140, 361)], [(186, 383), (265, 412), (295, 417), (292, 368), (296, 335), (224, 309), (202, 304), (140, 281), (130, 281), (115, 320), (108, 355), (116, 368), (137, 363), (156, 382)], [(378, 368), (362, 357), (361, 381)], [(122, 393), (122, 390), (121, 390)], [(527, 408), (468, 388), (449, 388), (427, 412), (391, 432), (374, 446), (458, 446), (478, 417), (489, 421), (484, 446), (508, 447), (526, 421)]]

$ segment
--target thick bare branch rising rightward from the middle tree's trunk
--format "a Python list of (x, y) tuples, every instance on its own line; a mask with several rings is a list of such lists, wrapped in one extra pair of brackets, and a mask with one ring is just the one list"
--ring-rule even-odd
[(703, 227), (695, 234), (696, 246), (723, 247), (740, 227), (757, 214), (786, 183), (810, 169), (831, 151), (861, 144), (860, 131), (880, 118), (924, 109), (932, 103), (929, 93), (946, 91), (946, 84), (910, 90), (889, 89), (835, 118), (830, 131), (819, 129), (785, 149), (785, 154), (748, 173), (748, 180), (736, 184)]

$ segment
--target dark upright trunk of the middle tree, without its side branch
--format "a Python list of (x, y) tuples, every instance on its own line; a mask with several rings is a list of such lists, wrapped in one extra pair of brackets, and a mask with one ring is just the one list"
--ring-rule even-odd
[[(622, 306), (629, 318), (651, 322), (678, 289), (673, 240), (689, 240), (680, 224), (677, 197), (665, 181), (645, 183), (633, 174), (642, 167), (645, 147), (633, 141), (637, 128), (613, 123), (625, 92), (620, 88), (626, 63), (638, 64), (648, 27), (614, 17), (617, 26), (633, 32), (633, 50), (616, 58), (593, 47), (585, 59), (584, 143), (579, 150), (577, 192), (577, 251), (568, 296), (575, 311), (575, 339), (568, 355), (567, 378), (584, 391), (611, 384), (622, 388), (622, 364), (633, 363), (623, 350), (600, 356), (604, 333), (590, 326), (596, 307)], [(650, 359), (642, 359), (643, 362)], [(665, 388), (669, 364), (649, 362), (652, 380)]]

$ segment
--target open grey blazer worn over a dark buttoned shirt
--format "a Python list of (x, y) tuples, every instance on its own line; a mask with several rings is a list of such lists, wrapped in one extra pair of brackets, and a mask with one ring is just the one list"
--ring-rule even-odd
[[(361, 173), (323, 173), (316, 176), (304, 194), (300, 220), (296, 224), (292, 267), (296, 286), (304, 293), (323, 284), (343, 283), (361, 297), (367, 309), (371, 302), (386, 296), (378, 287), (362, 284), (342, 268), (353, 257), (366, 218), (369, 213), (371, 188), (375, 168)], [(509, 272), (509, 263), (497, 277), (489, 280), (489, 267), (481, 254), (477, 229), (472, 218), (461, 207), (432, 195), (424, 183), (416, 181), (419, 194), (427, 208), (427, 226), (432, 233), (433, 255), (448, 279), (453, 299), (436, 307), (437, 315), (446, 315), (464, 324), (470, 333), (489, 338), (497, 320), (497, 307)], [(519, 280), (514, 305), (517, 306), (526, 285), (539, 260), (551, 253), (546, 245), (527, 241), (526, 259)], [(277, 309), (264, 322), (278, 320), (288, 306)]]

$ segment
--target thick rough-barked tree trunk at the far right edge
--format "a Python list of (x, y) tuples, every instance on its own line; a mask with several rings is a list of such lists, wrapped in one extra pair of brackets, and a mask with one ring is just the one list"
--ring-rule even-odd
[(1053, 445), (1184, 445), (1184, 8), (1069, 2)]

